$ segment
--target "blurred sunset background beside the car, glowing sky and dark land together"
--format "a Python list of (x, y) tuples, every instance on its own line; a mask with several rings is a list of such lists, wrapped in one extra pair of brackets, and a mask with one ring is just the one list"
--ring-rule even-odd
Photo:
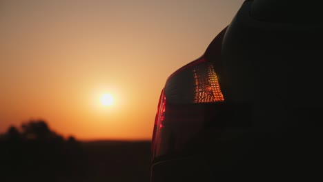
[(0, 181), (149, 181), (167, 77), (242, 0), (0, 0)]

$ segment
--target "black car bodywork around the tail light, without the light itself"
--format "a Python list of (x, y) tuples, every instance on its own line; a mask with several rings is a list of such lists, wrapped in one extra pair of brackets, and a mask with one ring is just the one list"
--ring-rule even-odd
[(205, 105), (195, 150), (153, 159), (152, 182), (322, 178), (322, 21), (264, 21), (252, 3), (204, 54), (224, 103)]

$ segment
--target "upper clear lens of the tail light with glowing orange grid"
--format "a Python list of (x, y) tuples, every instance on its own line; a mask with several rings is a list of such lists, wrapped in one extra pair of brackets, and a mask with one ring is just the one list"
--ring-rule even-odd
[(214, 63), (204, 57), (188, 63), (170, 75), (165, 95), (171, 103), (213, 103), (224, 101)]

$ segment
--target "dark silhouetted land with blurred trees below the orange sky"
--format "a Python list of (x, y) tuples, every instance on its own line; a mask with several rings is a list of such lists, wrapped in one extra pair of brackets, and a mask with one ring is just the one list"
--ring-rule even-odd
[(150, 181), (150, 141), (84, 142), (63, 139), (44, 122), (27, 127), (0, 134), (1, 182)]

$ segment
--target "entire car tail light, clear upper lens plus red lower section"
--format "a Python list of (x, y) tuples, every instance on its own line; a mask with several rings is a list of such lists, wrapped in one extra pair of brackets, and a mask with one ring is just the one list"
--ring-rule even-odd
[(171, 74), (157, 107), (153, 157), (182, 152), (203, 127), (204, 105), (223, 101), (214, 63), (204, 57)]

